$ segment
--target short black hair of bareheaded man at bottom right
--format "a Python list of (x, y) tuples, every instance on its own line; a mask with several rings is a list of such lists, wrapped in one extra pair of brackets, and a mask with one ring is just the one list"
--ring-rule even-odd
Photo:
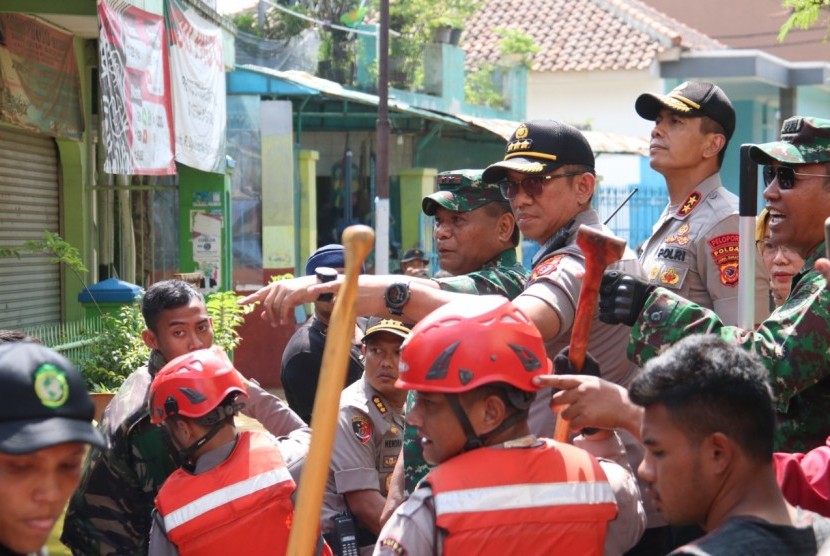
[(721, 432), (748, 457), (769, 462), (775, 410), (769, 374), (749, 351), (696, 334), (650, 360), (628, 392), (637, 405), (663, 405), (693, 439)]

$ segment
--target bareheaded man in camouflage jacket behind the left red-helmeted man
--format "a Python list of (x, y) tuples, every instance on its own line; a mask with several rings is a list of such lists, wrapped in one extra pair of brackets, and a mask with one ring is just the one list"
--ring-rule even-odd
[[(141, 311), (147, 326), (142, 337), (152, 352), (148, 364), (121, 385), (98, 425), (110, 448), (92, 449), (87, 455), (61, 536), (74, 554), (146, 554), (153, 500), (179, 467), (176, 449), (161, 427), (150, 423), (147, 394), (168, 360), (211, 347), (213, 326), (202, 295), (179, 280), (151, 286)], [(278, 398), (252, 381), (247, 386), (244, 413), (272, 434), (286, 435), (280, 450), (296, 480), (310, 429)]]

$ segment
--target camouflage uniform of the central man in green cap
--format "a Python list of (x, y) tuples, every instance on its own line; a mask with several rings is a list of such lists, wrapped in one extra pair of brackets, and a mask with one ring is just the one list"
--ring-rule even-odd
[[(485, 264), (481, 270), (464, 276), (440, 278), (437, 282), (442, 290), (477, 295), (498, 294), (513, 299), (522, 293), (529, 275), (530, 272), (516, 261), (516, 250), (508, 249)], [(409, 392), (404, 414), (412, 409), (414, 403), (415, 392)], [(431, 467), (424, 461), (417, 429), (409, 424), (404, 427), (403, 433), (403, 461), (406, 492), (412, 494)]]

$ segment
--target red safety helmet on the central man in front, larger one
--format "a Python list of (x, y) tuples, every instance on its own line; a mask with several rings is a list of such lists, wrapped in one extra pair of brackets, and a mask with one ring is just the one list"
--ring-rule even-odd
[(504, 382), (535, 392), (534, 376), (551, 372), (542, 335), (505, 298), (447, 303), (421, 320), (401, 346), (395, 386), (459, 393)]

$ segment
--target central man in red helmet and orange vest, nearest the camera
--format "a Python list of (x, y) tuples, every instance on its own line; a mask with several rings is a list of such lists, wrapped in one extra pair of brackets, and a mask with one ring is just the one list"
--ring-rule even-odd
[(376, 554), (622, 554), (645, 514), (616, 434), (578, 445), (530, 434), (534, 376), (550, 372), (542, 337), (496, 296), (451, 302), (404, 342), (407, 421), (437, 464), (381, 531)]

